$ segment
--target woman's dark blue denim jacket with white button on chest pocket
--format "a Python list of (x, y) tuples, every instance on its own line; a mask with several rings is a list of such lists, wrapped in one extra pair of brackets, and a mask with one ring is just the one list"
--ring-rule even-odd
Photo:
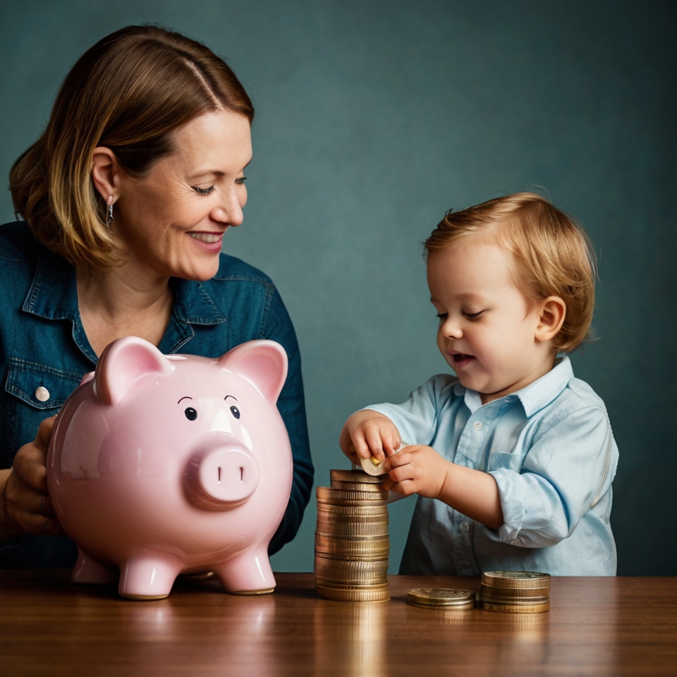
[[(310, 459), (298, 343), (272, 281), (243, 261), (221, 254), (207, 282), (170, 281), (173, 314), (159, 343), (162, 353), (216, 358), (240, 343), (270, 338), (289, 358), (277, 407), (293, 453), (291, 499), (270, 553), (291, 541), (310, 499)], [(22, 221), (0, 226), (0, 468), (10, 468), (86, 372), (97, 364), (78, 310), (75, 269), (33, 238)], [(46, 396), (49, 396), (46, 398)], [(0, 568), (56, 568), (75, 563), (67, 537), (23, 535), (0, 544)]]

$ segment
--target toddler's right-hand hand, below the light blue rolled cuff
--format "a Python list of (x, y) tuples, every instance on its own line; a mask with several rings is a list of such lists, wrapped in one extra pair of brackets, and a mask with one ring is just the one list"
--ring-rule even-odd
[(384, 489), (410, 496), (420, 494), (427, 499), (439, 499), (443, 495), (446, 476), (453, 464), (442, 458), (432, 446), (412, 444), (386, 458), (383, 470), (389, 479)]

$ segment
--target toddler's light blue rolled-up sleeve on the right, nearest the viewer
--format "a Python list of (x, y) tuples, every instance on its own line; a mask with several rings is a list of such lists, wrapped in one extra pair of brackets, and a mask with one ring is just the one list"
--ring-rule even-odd
[(508, 458), (507, 467), (489, 470), (504, 517), (497, 539), (530, 548), (559, 543), (609, 491), (617, 463), (618, 449), (604, 409), (583, 408), (553, 422), (535, 434), (519, 472)]

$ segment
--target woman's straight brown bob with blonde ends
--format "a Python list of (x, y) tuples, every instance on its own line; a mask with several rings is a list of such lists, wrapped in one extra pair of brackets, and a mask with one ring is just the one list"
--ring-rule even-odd
[(151, 25), (111, 33), (71, 68), (44, 133), (13, 164), (16, 214), (73, 265), (119, 265), (92, 181), (94, 149), (108, 147), (124, 171), (142, 177), (173, 152), (175, 130), (218, 110), (254, 117), (233, 71), (205, 45)]

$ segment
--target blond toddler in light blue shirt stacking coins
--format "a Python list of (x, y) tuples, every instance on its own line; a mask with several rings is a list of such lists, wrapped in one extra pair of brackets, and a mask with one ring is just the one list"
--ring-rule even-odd
[[(594, 256), (534, 193), (449, 212), (425, 242), (437, 346), (456, 372), (351, 415), (341, 449), (418, 494), (400, 573), (615, 575), (618, 449), (566, 353), (585, 340)], [(401, 451), (396, 450), (401, 444)]]

